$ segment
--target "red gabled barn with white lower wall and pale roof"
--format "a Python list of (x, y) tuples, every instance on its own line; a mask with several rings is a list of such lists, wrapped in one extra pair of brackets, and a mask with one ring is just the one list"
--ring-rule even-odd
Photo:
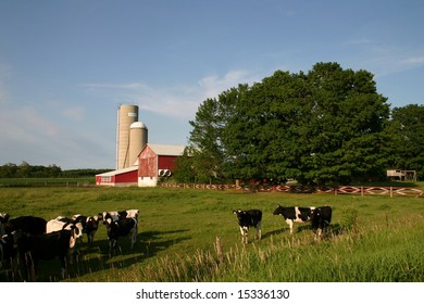
[(160, 177), (171, 176), (185, 145), (147, 143), (138, 155), (138, 186), (155, 187)]

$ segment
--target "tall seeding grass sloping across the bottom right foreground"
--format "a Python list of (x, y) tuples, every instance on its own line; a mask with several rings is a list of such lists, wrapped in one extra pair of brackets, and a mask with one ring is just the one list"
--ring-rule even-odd
[[(295, 281), (295, 282), (398, 282), (423, 281), (423, 225), (412, 218), (342, 235), (327, 235), (321, 242), (309, 237), (272, 238), (264, 245), (235, 245), (224, 255), (197, 252), (160, 258), (140, 268), (149, 281)], [(395, 223), (394, 223), (395, 225)], [(401, 245), (399, 245), (401, 243)]]

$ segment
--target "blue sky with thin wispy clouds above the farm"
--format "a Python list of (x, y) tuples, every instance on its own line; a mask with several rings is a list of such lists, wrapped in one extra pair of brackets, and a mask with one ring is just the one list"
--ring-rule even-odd
[(424, 1), (0, 0), (0, 165), (114, 168), (116, 110), (186, 144), (198, 106), (316, 62), (424, 103)]

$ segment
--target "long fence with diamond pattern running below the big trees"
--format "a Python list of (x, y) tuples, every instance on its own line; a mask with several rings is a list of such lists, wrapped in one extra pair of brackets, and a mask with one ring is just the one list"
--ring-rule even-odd
[(339, 186), (337, 188), (314, 188), (298, 185), (282, 186), (236, 186), (236, 185), (208, 185), (208, 183), (176, 183), (161, 182), (159, 187), (180, 188), (180, 189), (199, 189), (199, 190), (236, 190), (245, 192), (289, 192), (289, 193), (334, 193), (356, 194), (356, 195), (388, 195), (392, 197), (416, 197), (424, 198), (424, 188), (415, 187), (364, 187), (364, 186)]

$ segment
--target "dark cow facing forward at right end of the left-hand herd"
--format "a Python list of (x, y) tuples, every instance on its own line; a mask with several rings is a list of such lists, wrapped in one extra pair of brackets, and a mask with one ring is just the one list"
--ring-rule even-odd
[(137, 219), (134, 217), (130, 218), (120, 218), (117, 220), (112, 220), (112, 218), (108, 218), (105, 220), (108, 239), (109, 239), (109, 254), (115, 251), (117, 239), (120, 237), (129, 236), (132, 240), (132, 249), (134, 244), (137, 242)]

